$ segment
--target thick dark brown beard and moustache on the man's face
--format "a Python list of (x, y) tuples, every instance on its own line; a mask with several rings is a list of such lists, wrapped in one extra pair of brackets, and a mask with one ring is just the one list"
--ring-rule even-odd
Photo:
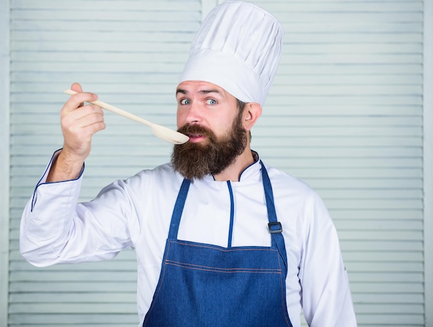
[(178, 129), (183, 134), (201, 134), (208, 139), (204, 140), (205, 144), (186, 142), (175, 145), (172, 153), (174, 170), (193, 180), (208, 174), (219, 174), (229, 167), (237, 156), (241, 155), (248, 142), (247, 131), (242, 127), (241, 118), (240, 113), (228, 136), (219, 139), (209, 129), (196, 124), (185, 124)]

